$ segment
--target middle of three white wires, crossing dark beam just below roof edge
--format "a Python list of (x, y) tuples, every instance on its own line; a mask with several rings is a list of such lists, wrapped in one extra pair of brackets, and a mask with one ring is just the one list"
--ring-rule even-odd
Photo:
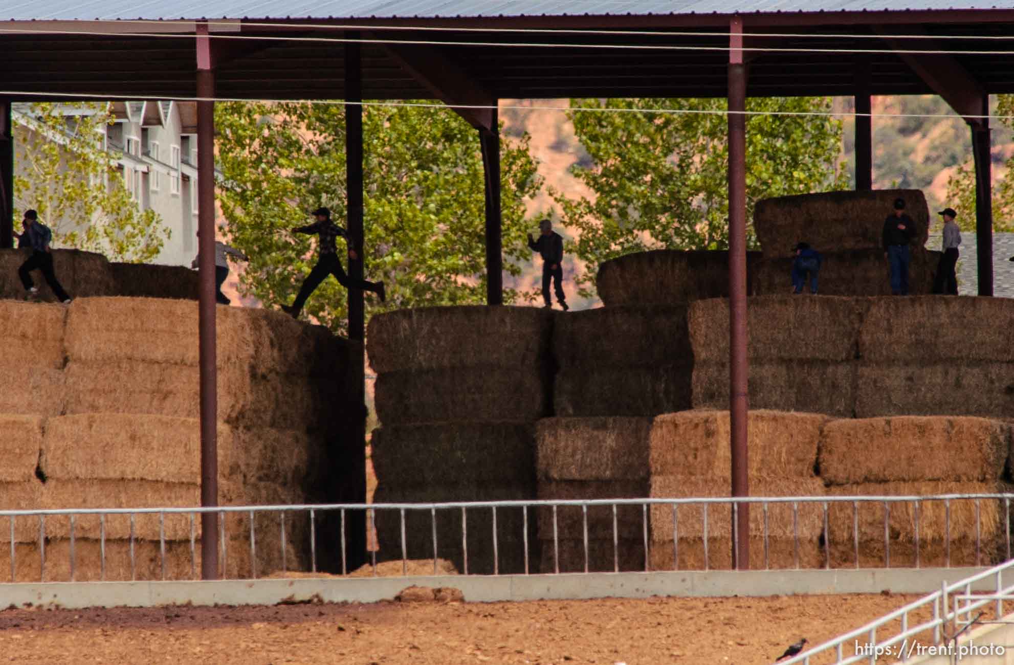
[[(368, 27), (362, 28), (369, 31)], [(267, 34), (222, 34), (209, 33), (199, 35), (184, 32), (122, 32), (122, 31), (101, 31), (101, 30), (68, 30), (68, 29), (24, 29), (16, 27), (0, 27), (0, 33), (17, 33), (26, 35), (50, 34), (50, 35), (78, 35), (78, 36), (116, 36), (116, 38), (145, 38), (145, 39), (193, 39), (207, 36), (214, 40), (247, 40), (259, 42), (296, 42), (310, 44), (390, 44), (409, 46), (438, 46), (438, 47), (484, 47), (484, 48), (506, 48), (506, 49), (592, 49), (605, 51), (676, 51), (676, 52), (763, 52), (763, 53), (821, 53), (821, 54), (893, 54), (912, 56), (1014, 56), (1014, 51), (956, 51), (953, 49), (814, 49), (803, 47), (740, 47), (731, 49), (724, 46), (692, 46), (692, 45), (646, 45), (646, 44), (560, 44), (552, 42), (467, 42), (467, 41), (434, 41), (434, 40), (385, 40), (377, 38), (323, 38), (323, 36), (280, 36)], [(883, 38), (881, 38), (883, 39)]]

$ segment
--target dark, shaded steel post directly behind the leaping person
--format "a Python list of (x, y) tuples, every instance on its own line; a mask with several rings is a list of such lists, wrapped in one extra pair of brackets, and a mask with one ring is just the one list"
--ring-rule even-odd
[[(346, 33), (350, 40), (360, 39), (358, 31)], [(363, 100), (362, 47), (357, 42), (345, 44), (345, 99)], [(345, 106), (345, 196), (346, 222), (349, 239), (356, 247), (358, 258), (349, 260), (349, 275), (361, 279), (364, 273), (366, 249), (363, 230), (363, 107), (359, 103)], [(366, 355), (363, 339), (366, 334), (366, 303), (362, 291), (349, 291), (349, 381), (351, 399), (356, 408), (366, 403)], [(365, 409), (365, 407), (363, 407)], [(349, 445), (343, 454), (348, 468), (342, 488), (344, 503), (366, 503), (366, 415), (358, 411), (352, 415), (349, 428)], [(349, 561), (359, 562), (366, 555), (366, 514), (352, 511), (346, 525)], [(365, 562), (365, 559), (362, 560)]]

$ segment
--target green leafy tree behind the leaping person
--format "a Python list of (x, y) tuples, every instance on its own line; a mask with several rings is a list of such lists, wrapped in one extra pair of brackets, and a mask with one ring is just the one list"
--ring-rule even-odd
[[(331, 208), (343, 225), (345, 112), (340, 104), (220, 103), (215, 123), (220, 204), (231, 242), (249, 257), (241, 289), (290, 302), (316, 260), (313, 239), (286, 231)], [(485, 195), (476, 131), (445, 108), (363, 109), (365, 266), (383, 280), (387, 302), (367, 296), (367, 315), (384, 309), (481, 303), (486, 294)], [(530, 260), (524, 199), (540, 187), (526, 136), (501, 140), (505, 270)], [(340, 247), (341, 251), (341, 247)], [(507, 302), (526, 297), (507, 290)], [(327, 280), (306, 311), (336, 332), (347, 319), (345, 289)]]

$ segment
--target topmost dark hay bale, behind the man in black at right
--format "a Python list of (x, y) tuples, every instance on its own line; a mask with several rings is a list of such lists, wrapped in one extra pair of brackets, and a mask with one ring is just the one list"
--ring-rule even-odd
[(884, 219), (894, 212), (894, 200), (904, 199), (906, 212), (916, 223), (912, 244), (929, 238), (930, 212), (919, 190), (821, 192), (762, 199), (753, 207), (753, 229), (766, 258), (792, 256), (796, 243), (818, 250), (865, 249), (880, 246)]

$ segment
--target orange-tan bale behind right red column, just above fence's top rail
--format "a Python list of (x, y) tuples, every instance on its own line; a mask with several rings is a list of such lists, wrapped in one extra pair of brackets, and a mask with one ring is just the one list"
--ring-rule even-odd
[[(818, 414), (748, 412), (750, 478), (762, 481), (765, 487), (771, 484), (777, 487), (779, 478), (814, 477), (820, 431), (827, 420)], [(651, 475), (710, 476), (720, 481), (716, 490), (724, 492), (728, 489), (732, 465), (729, 440), (727, 411), (690, 411), (659, 416), (651, 428)], [(759, 494), (753, 490), (751, 493)]]

